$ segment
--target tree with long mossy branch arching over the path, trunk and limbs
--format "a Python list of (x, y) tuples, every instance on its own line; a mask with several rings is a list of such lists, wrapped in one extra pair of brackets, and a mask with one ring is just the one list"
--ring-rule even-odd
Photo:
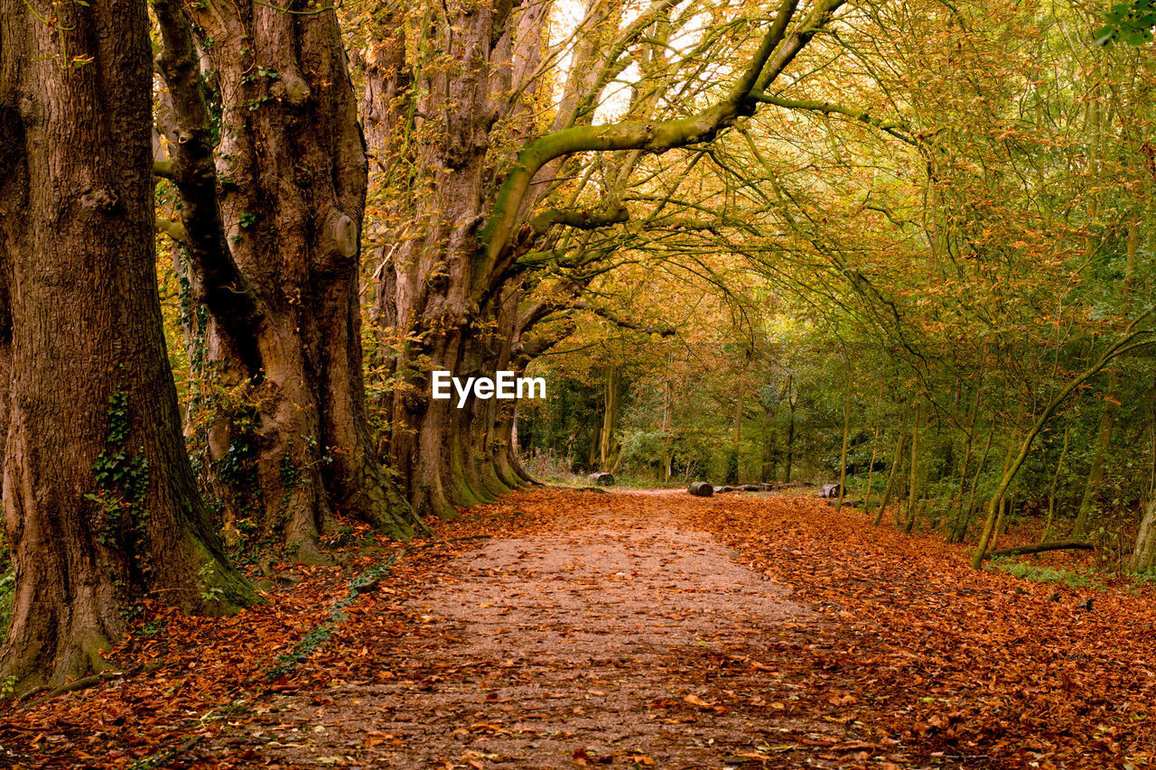
[[(418, 510), (452, 514), (518, 483), (492, 467), (495, 447), (481, 443), (488, 424), (428, 398), (429, 371), (481, 371), (506, 357), (528, 328), (507, 333), (502, 308), (517, 306), (543, 274), (576, 273), (580, 294), (608, 253), (584, 235), (630, 219), (622, 195), (639, 161), (702, 147), (753, 114), (757, 95), (842, 5), (820, 0), (796, 14), (785, 0), (764, 18), (742, 3), (676, 14), (677, 2), (658, 0), (629, 18), (624, 6), (594, 0), (565, 50), (548, 45), (546, 5), (451, 2), (408, 17), (394, 6), (378, 16), (388, 35), (370, 46), (368, 92), (398, 95), (380, 120), (398, 131), (373, 151), (410, 202), (383, 252), (376, 313), (394, 353), (390, 373), (406, 383), (386, 405), (390, 451)], [(718, 34), (726, 16), (755, 34)], [(695, 23), (704, 25), (698, 42), (673, 57), (665, 40)], [(564, 53), (562, 97), (542, 118)], [(627, 114), (595, 123), (632, 64), (643, 76)], [(712, 89), (721, 73), (727, 87)], [(564, 184), (575, 177), (581, 182)], [(601, 194), (587, 188), (596, 178)]]

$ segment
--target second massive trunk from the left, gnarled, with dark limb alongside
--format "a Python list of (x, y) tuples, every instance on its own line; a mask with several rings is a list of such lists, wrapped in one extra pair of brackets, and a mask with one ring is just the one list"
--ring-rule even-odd
[[(193, 335), (203, 349), (191, 357), (240, 401), (220, 409), (205, 435), (215, 488), (232, 516), (257, 508), (262, 531), (302, 561), (324, 560), (317, 541), (334, 510), (408, 536), (420, 520), (381, 466), (366, 417), (357, 289), (368, 168), (336, 15), (255, 1), (186, 10), (221, 101), (215, 183), (206, 185), (214, 170), (202, 162), (194, 172), (197, 158), (181, 156), (183, 134), (208, 129), (199, 83), (180, 83), (181, 73), (197, 73), (190, 18), (175, 0), (155, 5), (183, 210), (218, 206), (223, 222), (222, 232), (185, 221), (191, 283), (205, 284), (198, 298), (209, 311), (203, 342)], [(232, 266), (223, 273), (237, 302), (254, 308), (250, 318), (238, 323), (209, 302), (215, 282), (199, 251)], [(239, 424), (245, 410), (254, 425)], [(244, 447), (252, 477), (222, 477), (243, 464), (231, 456)], [(255, 496), (246, 498), (246, 487)]]

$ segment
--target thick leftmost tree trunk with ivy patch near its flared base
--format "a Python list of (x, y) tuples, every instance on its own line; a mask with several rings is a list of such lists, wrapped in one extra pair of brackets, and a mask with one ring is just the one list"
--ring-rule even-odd
[(54, 13), (52, 28), (22, 0), (0, 2), (3, 510), (16, 568), (0, 654), (17, 689), (108, 667), (102, 651), (147, 597), (190, 612), (255, 600), (198, 496), (164, 349), (146, 6)]

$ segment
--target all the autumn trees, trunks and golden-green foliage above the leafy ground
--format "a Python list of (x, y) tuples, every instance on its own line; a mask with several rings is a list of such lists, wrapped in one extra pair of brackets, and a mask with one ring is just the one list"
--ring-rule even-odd
[(591, 473), (1156, 569), (1143, 2), (0, 16), (9, 691)]

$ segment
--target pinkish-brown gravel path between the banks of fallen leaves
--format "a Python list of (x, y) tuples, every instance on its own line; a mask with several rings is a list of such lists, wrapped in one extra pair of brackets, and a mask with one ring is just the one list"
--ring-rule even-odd
[(229, 753), (290, 767), (722, 768), (790, 765), (784, 752), (807, 736), (846, 742), (842, 725), (783, 719), (795, 696), (765, 662), (805, 644), (815, 615), (661, 497), (639, 502), (632, 519), (594, 506), (457, 557), (409, 600), (416, 632), (325, 696), (276, 697)]

